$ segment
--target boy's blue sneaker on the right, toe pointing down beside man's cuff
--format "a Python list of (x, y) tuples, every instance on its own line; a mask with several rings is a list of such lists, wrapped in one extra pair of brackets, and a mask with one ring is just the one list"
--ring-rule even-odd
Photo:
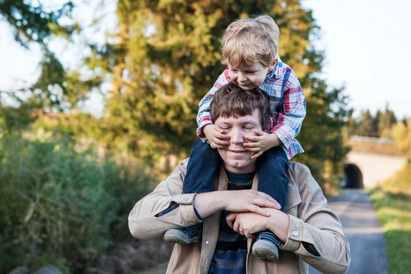
[(279, 238), (273, 232), (260, 232), (253, 245), (253, 256), (261, 260), (278, 260)]

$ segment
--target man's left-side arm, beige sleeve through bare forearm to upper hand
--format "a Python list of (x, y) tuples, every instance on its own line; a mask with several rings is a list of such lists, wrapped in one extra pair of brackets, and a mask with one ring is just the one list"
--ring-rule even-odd
[(152, 240), (177, 227), (188, 227), (219, 210), (256, 212), (261, 207), (279, 208), (269, 195), (256, 190), (222, 190), (207, 193), (183, 193), (188, 160), (182, 161), (153, 192), (142, 198), (129, 214), (129, 230), (135, 238)]

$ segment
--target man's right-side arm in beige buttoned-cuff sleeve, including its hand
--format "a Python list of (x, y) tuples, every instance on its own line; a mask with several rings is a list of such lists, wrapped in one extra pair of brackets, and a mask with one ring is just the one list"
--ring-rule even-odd
[(345, 273), (351, 256), (340, 220), (327, 206), (327, 199), (308, 167), (294, 165), (297, 166), (291, 176), (299, 182), (299, 190), (288, 190), (288, 199), (295, 201), (292, 196), (301, 197), (298, 217), (266, 209), (271, 212), (269, 217), (233, 213), (227, 216), (227, 223), (249, 238), (269, 229), (282, 240), (280, 249), (295, 253), (322, 273)]

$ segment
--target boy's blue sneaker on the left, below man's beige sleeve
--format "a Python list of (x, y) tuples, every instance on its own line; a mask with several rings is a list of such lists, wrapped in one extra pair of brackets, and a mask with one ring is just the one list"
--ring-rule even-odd
[(190, 227), (173, 228), (166, 231), (164, 240), (173, 244), (188, 245), (192, 242), (198, 242), (203, 231), (203, 223), (196, 223)]

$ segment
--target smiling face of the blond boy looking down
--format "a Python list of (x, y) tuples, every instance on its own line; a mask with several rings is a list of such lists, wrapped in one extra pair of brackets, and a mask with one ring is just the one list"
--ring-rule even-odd
[(233, 67), (228, 65), (229, 77), (234, 84), (243, 90), (252, 90), (264, 82), (267, 73), (273, 70), (275, 63), (276, 61), (268, 68), (264, 68), (260, 62), (254, 62), (251, 66)]

